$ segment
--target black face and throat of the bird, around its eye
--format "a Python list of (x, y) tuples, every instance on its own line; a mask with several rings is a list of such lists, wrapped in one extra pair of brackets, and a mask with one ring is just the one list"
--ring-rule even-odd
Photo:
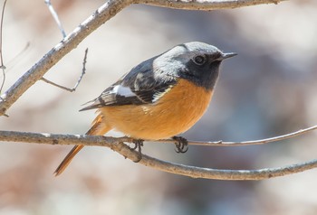
[(218, 59), (220, 57), (220, 52), (212, 55), (196, 55), (187, 62), (186, 69), (180, 70), (178, 75), (183, 79), (194, 82), (197, 86), (213, 89), (219, 75), (221, 60)]

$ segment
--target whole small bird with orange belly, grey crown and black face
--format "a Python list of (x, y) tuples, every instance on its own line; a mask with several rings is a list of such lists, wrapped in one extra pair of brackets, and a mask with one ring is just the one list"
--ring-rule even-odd
[[(137, 140), (184, 140), (178, 135), (207, 110), (221, 62), (235, 55), (204, 42), (187, 42), (142, 61), (80, 110), (98, 113), (86, 135), (103, 136), (115, 129)], [(56, 176), (82, 148), (72, 148)]]

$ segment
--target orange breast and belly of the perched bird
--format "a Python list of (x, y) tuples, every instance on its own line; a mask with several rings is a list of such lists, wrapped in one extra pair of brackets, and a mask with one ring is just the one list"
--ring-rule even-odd
[(155, 104), (101, 108), (105, 124), (139, 139), (163, 139), (187, 131), (205, 113), (212, 91), (186, 79)]

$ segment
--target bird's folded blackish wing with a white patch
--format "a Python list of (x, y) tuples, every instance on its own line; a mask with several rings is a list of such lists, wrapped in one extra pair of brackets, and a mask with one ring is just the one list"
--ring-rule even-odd
[(155, 70), (152, 59), (130, 70), (116, 83), (105, 89), (101, 96), (82, 110), (105, 106), (141, 105), (156, 102), (175, 83), (176, 78), (166, 72)]

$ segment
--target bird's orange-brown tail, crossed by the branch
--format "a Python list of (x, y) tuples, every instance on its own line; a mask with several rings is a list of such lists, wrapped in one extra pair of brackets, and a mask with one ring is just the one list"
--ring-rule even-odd
[[(104, 134), (106, 134), (108, 131), (110, 131), (111, 127), (106, 125), (103, 122), (103, 117), (100, 115), (98, 115), (98, 117), (95, 118), (95, 120), (93, 120), (91, 129), (89, 129), (89, 131), (86, 133), (86, 135), (90, 135), (90, 136), (103, 136)], [(69, 152), (66, 157), (62, 160), (62, 163), (57, 167), (57, 169), (55, 170), (54, 174), (55, 176), (60, 175), (65, 169), (66, 167), (71, 163), (72, 158), (79, 153), (79, 151), (81, 151), (83, 148), (83, 145), (75, 145), (71, 152)]]

